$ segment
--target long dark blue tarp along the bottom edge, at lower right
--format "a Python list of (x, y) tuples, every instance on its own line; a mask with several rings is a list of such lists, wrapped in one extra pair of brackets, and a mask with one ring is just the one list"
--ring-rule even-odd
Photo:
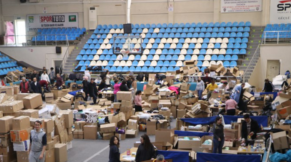
[(197, 162), (260, 162), (260, 155), (231, 155), (197, 152)]

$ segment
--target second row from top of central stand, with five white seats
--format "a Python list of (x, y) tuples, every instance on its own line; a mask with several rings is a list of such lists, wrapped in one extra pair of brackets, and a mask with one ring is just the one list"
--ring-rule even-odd
[[(138, 28), (138, 29), (132, 29), (132, 33), (200, 33), (200, 32), (249, 32), (250, 27), (208, 27), (208, 28)], [(99, 33), (99, 34), (119, 34), (119, 33), (124, 33), (123, 29), (95, 29), (94, 34)]]

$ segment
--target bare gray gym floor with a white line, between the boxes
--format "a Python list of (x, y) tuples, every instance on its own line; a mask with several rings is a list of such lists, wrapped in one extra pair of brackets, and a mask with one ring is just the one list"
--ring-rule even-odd
[[(176, 120), (172, 120), (171, 128), (173, 129), (176, 125)], [(133, 147), (136, 141), (142, 134), (146, 132), (139, 132), (139, 136), (136, 138), (126, 138), (120, 141), (120, 152), (123, 153), (127, 148)], [(155, 136), (149, 136), (152, 142), (155, 142)], [(104, 141), (98, 140), (73, 140), (73, 148), (68, 150), (68, 161), (69, 162), (107, 162), (109, 160), (109, 140)], [(104, 150), (104, 148), (106, 148)]]

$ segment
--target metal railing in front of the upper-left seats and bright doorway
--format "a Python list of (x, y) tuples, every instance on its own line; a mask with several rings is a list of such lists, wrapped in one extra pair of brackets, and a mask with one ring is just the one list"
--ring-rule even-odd
[[(47, 45), (66, 45), (74, 44), (74, 40), (68, 35), (2, 35), (6, 46), (47, 46)], [(77, 38), (76, 38), (77, 39)]]

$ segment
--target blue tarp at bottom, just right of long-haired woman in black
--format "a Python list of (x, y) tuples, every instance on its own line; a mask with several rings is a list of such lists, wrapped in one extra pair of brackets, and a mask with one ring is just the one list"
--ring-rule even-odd
[(173, 159), (173, 162), (189, 162), (189, 152), (158, 150), (158, 154), (164, 155), (165, 159)]

